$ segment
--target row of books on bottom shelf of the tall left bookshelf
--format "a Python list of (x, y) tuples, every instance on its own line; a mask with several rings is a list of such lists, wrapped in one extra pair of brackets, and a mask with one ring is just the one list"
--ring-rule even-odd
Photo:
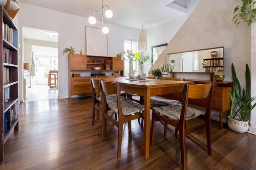
[(11, 129), (11, 124), (18, 119), (18, 101), (4, 113), (4, 134)]

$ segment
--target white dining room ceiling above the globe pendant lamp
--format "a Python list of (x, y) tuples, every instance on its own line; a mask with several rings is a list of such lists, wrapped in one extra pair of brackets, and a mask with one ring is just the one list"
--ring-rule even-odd
[[(111, 19), (106, 19), (106, 22), (135, 29), (141, 29), (143, 25), (147, 29), (185, 14), (184, 11), (166, 6), (173, 1), (105, 0), (104, 5), (109, 5), (114, 14)], [(20, 2), (86, 18), (94, 11), (101, 11), (100, 0), (20, 0)], [(96, 18), (100, 20), (99, 16)]]

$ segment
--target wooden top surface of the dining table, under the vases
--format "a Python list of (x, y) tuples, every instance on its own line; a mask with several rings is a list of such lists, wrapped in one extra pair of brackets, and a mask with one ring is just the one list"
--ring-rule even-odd
[(172, 87), (172, 86), (182, 86), (185, 83), (193, 84), (193, 82), (188, 81), (173, 81), (173, 80), (159, 80), (159, 79), (147, 79), (149, 81), (141, 82), (136, 80), (127, 80), (124, 77), (120, 78), (103, 78), (105, 81), (111, 82), (119, 82), (123, 85), (130, 85), (130, 86), (140, 86), (140, 87)]

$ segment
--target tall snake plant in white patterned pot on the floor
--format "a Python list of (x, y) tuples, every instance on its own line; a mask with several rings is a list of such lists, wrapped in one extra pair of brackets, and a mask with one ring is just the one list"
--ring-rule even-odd
[(236, 132), (244, 133), (249, 129), (249, 121), (247, 115), (256, 106), (251, 105), (251, 102), (255, 100), (255, 97), (251, 98), (251, 79), (250, 69), (246, 64), (245, 81), (246, 88), (241, 90), (240, 82), (236, 75), (234, 65), (231, 65), (232, 78), (233, 78), (233, 89), (230, 92), (231, 109), (228, 116), (228, 127)]

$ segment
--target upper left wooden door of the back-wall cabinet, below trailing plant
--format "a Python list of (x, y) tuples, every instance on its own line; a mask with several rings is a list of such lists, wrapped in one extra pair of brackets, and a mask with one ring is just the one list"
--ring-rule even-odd
[(70, 70), (86, 70), (86, 55), (70, 54)]

